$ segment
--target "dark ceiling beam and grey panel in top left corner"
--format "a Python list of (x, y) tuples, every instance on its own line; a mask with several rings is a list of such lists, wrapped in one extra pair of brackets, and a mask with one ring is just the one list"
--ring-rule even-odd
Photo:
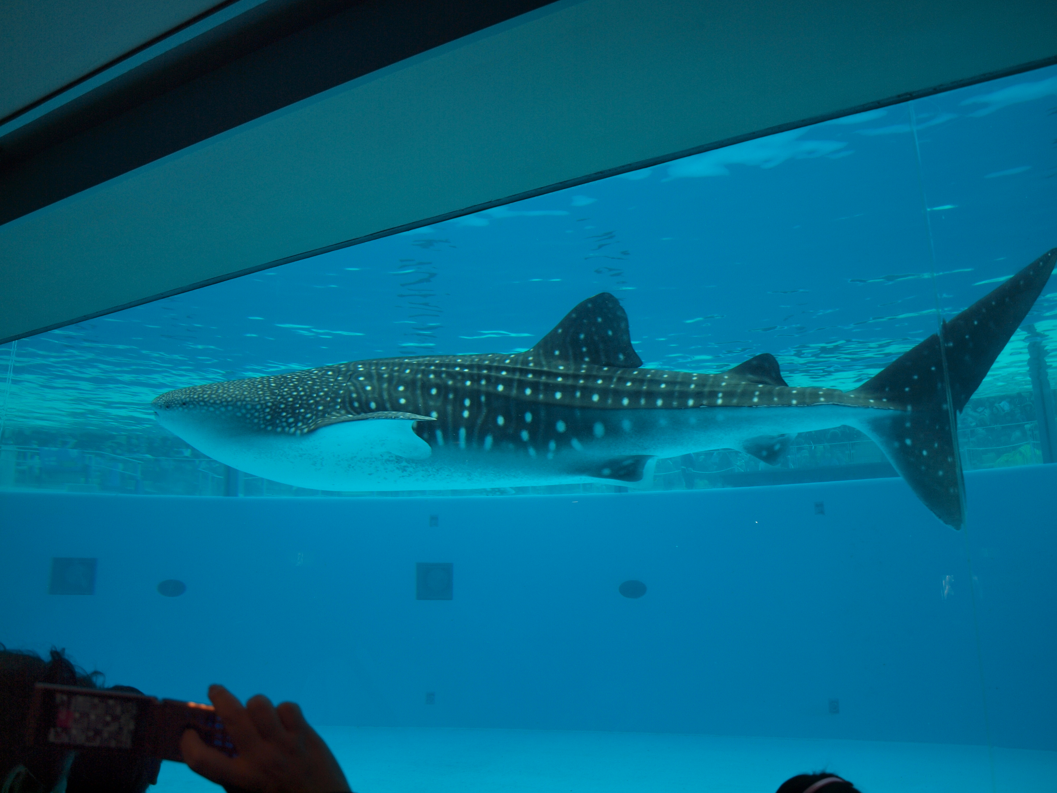
[[(93, 3), (74, 16), (23, 8), (3, 56), (19, 79), (4, 84), (0, 107), (24, 104), (0, 125), (0, 224), (548, 2), (242, 0), (203, 12), (185, 0), (116, 20), (125, 10)], [(79, 34), (68, 30), (81, 17), (92, 19)], [(93, 75), (101, 85), (78, 90)]]

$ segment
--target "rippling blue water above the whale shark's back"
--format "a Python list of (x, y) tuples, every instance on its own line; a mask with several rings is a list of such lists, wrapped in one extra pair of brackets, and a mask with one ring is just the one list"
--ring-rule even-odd
[[(1055, 86), (1049, 68), (783, 132), (24, 339), (6, 423), (155, 432), (172, 388), (523, 350), (601, 291), (647, 366), (771, 352), (791, 384), (852, 388), (1053, 247)], [(1026, 320), (1051, 349), (1055, 316), (1047, 290)], [(1019, 332), (978, 394), (1028, 390), (1025, 361)]]

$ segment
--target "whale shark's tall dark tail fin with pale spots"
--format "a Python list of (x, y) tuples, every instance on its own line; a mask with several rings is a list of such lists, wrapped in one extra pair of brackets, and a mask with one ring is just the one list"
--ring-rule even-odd
[(1055, 263), (1057, 248), (852, 391), (879, 406), (887, 403), (897, 408), (872, 411), (861, 428), (925, 505), (956, 529), (965, 522), (965, 487), (954, 416), (1031, 311)]

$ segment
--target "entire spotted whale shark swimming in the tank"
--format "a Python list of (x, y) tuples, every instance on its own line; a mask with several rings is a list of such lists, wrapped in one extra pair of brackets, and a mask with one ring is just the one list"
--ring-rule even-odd
[(390, 357), (179, 388), (157, 421), (222, 463), (326, 491), (652, 479), (656, 459), (733, 448), (778, 462), (848, 425), (945, 523), (965, 521), (957, 413), (1038, 298), (1050, 251), (851, 391), (798, 387), (769, 353), (718, 374), (643, 368), (609, 293), (532, 349)]

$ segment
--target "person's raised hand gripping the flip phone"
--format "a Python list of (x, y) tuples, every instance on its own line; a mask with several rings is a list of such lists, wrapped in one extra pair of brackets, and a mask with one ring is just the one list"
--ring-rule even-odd
[(228, 757), (186, 730), (180, 751), (191, 771), (252, 793), (351, 793), (334, 755), (293, 702), (274, 707), (258, 694), (243, 707), (222, 685), (209, 686), (209, 701), (239, 756)]

